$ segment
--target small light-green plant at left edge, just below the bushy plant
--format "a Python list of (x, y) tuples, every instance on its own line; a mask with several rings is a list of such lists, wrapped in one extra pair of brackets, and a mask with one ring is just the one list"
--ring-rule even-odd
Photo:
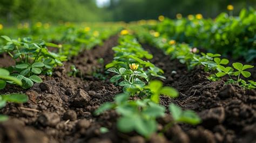
[(17, 84), (22, 86), (22, 81), (16, 77), (10, 76), (10, 72), (8, 70), (0, 68), (0, 90), (2, 90), (6, 83)]

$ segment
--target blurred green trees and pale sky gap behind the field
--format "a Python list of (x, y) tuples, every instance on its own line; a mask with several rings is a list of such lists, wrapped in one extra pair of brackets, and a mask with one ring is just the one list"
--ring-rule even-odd
[(1, 0), (0, 23), (22, 22), (106, 22), (175, 18), (201, 13), (214, 18), (234, 5), (234, 15), (242, 8), (256, 8), (255, 0)]

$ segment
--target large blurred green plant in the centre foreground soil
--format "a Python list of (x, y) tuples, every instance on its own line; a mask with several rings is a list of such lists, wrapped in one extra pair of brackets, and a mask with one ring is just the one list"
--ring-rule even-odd
[(156, 118), (165, 115), (165, 108), (153, 103), (150, 99), (129, 100), (129, 94), (118, 94), (114, 103), (105, 103), (96, 110), (100, 114), (106, 110), (115, 109), (121, 117), (117, 120), (118, 130), (124, 133), (136, 131), (144, 137), (157, 131)]

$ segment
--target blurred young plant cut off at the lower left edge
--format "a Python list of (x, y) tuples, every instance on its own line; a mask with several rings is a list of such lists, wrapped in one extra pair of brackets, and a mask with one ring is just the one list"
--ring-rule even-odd
[[(25, 94), (5, 94), (5, 95), (0, 95), (0, 109), (3, 108), (7, 102), (11, 103), (26, 103), (28, 101), (28, 96)], [(7, 120), (8, 117), (6, 115), (1, 115), (0, 114), (0, 121), (5, 121)]]

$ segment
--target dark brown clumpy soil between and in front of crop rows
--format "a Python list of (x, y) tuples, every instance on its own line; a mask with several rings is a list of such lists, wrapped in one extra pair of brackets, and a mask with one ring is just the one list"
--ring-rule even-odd
[[(225, 85), (223, 79), (211, 82), (209, 73), (200, 67), (187, 71), (178, 60), (170, 60), (160, 50), (149, 45), (143, 47), (153, 53), (152, 63), (165, 71), (166, 86), (175, 87), (180, 96), (176, 99), (161, 97), (161, 104), (175, 103), (184, 109), (196, 111), (203, 122), (197, 126), (177, 124), (164, 135), (153, 134), (145, 139), (136, 133), (117, 131), (117, 113), (108, 111), (102, 115), (93, 112), (106, 101), (122, 92), (122, 88), (110, 83), (104, 73), (104, 65), (113, 59), (111, 47), (117, 45), (117, 36), (107, 39), (102, 46), (84, 51), (57, 67), (51, 77), (42, 76), (44, 82), (29, 90), (8, 85), (0, 93), (21, 92), (29, 96), (28, 103), (12, 104), (0, 110), (9, 120), (0, 123), (0, 142), (255, 142), (256, 141), (256, 91), (243, 90), (237, 85)], [(6, 57), (0, 61), (13, 64)], [(99, 62), (103, 58), (104, 62)], [(8, 63), (8, 64), (7, 64)], [(70, 66), (80, 71), (76, 77), (68, 76)], [(93, 76), (92, 76), (93, 74)], [(103, 80), (105, 79), (105, 80)], [(255, 80), (255, 78), (254, 78)], [(159, 130), (171, 116), (158, 119)], [(100, 133), (100, 127), (109, 129)]]

